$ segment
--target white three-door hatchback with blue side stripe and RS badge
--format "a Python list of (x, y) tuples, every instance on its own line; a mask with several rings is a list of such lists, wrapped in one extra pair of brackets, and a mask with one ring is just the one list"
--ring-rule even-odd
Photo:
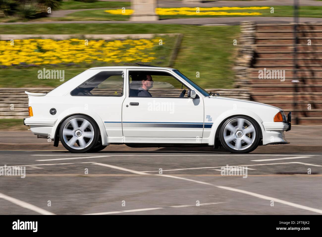
[(172, 68), (90, 68), (49, 93), (25, 92), (33, 134), (69, 151), (130, 147), (223, 146), (247, 153), (287, 144), (291, 113), (208, 93)]

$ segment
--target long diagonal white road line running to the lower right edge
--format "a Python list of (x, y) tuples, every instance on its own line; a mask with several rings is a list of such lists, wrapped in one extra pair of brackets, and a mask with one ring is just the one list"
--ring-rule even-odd
[[(102, 163), (96, 163), (96, 164), (97, 165), (104, 165), (104, 166), (107, 165), (107, 164), (102, 164)], [(107, 166), (112, 167), (112, 166), (109, 166), (109, 165), (107, 165)], [(140, 172), (140, 171), (130, 170), (130, 169), (126, 169), (126, 168), (119, 167), (119, 166), (113, 166), (113, 167), (115, 169), (118, 169), (118, 170), (127, 170), (128, 172), (132, 172), (132, 173), (135, 173), (135, 174), (143, 173), (143, 172)], [(150, 174), (150, 175), (153, 175), (153, 174)], [(296, 204), (296, 203), (291, 203), (291, 202), (284, 201), (284, 200), (281, 200), (281, 199), (278, 199), (278, 198), (269, 197), (269, 196), (265, 196), (265, 195), (245, 191), (245, 190), (242, 190), (242, 189), (226, 187), (226, 186), (218, 186), (218, 185), (210, 184), (210, 183), (207, 183), (207, 182), (197, 181), (197, 180), (193, 180), (193, 179), (187, 179), (187, 178), (184, 178), (184, 177), (173, 176), (173, 175), (158, 175), (158, 174), (156, 174), (156, 176), (181, 179), (181, 180), (186, 180), (186, 181), (190, 181), (190, 182), (194, 182), (194, 183), (198, 183), (198, 184), (204, 184), (204, 185), (211, 185), (213, 187), (226, 189), (226, 190), (230, 190), (230, 191), (234, 191), (234, 192), (239, 192), (239, 193), (247, 194), (247, 195), (250, 195), (250, 196), (258, 197), (258, 198), (261, 198), (261, 199), (266, 199), (266, 200), (269, 200), (269, 201), (273, 200), (274, 202), (277, 202), (277, 203), (281, 203), (281, 204), (289, 205), (289, 206), (296, 207), (296, 208), (299, 208), (299, 209), (308, 210), (308, 211), (311, 211), (311, 212), (322, 214), (322, 210), (320, 210), (320, 209), (316, 209), (316, 208), (312, 208), (312, 207), (308, 207), (308, 206), (304, 206), (304, 205), (300, 205), (300, 204)]]

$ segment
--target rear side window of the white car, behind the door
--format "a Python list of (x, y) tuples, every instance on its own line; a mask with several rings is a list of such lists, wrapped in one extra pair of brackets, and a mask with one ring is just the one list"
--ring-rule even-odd
[(122, 96), (123, 71), (101, 71), (71, 91), (72, 96)]

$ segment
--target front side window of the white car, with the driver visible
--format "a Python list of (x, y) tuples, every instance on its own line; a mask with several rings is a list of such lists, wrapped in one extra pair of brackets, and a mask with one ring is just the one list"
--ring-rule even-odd
[(187, 98), (188, 88), (167, 72), (130, 71), (130, 97)]

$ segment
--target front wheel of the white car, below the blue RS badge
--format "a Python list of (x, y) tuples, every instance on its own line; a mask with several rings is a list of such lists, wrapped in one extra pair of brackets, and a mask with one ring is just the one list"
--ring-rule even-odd
[(232, 153), (248, 153), (258, 147), (259, 129), (254, 119), (236, 116), (223, 123), (220, 141), (223, 147)]

